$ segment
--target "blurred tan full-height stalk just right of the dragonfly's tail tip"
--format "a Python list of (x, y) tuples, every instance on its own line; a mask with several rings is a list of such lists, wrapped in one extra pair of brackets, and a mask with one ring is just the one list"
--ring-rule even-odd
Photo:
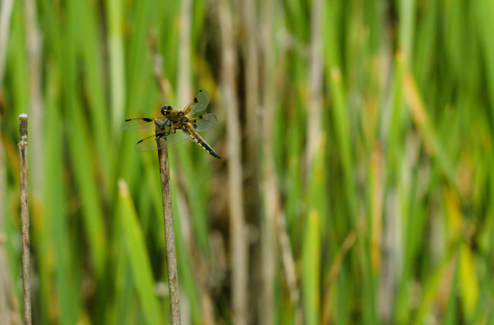
[(244, 220), (242, 188), (241, 129), (236, 89), (237, 53), (233, 36), (232, 14), (226, 0), (218, 1), (221, 34), (221, 71), (224, 100), (227, 110), (228, 191), (230, 208), (230, 238), (232, 267), (233, 324), (247, 324), (247, 236)]

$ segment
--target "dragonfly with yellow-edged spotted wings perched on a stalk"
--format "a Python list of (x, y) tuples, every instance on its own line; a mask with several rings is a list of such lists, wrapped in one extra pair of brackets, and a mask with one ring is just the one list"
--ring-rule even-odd
[[(221, 159), (209, 144), (198, 134), (209, 130), (216, 124), (216, 115), (207, 112), (191, 117), (206, 109), (209, 93), (200, 90), (196, 97), (183, 110), (173, 109), (170, 105), (161, 108), (161, 115), (147, 118), (131, 118), (122, 122), (122, 129), (132, 132), (156, 132), (135, 144), (136, 151), (153, 151), (192, 139), (213, 157)], [(166, 142), (159, 141), (165, 138)], [(166, 144), (165, 144), (166, 143)]]

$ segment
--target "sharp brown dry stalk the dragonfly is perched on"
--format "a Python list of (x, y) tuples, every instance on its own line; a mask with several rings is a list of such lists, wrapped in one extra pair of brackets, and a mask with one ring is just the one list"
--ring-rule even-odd
[(175, 229), (173, 227), (173, 210), (171, 205), (168, 150), (166, 149), (166, 140), (163, 139), (163, 137), (157, 139), (156, 141), (160, 146), (160, 143), (165, 143), (163, 149), (158, 149), (158, 160), (160, 162), (161, 192), (163, 195), (163, 218), (165, 220), (166, 268), (168, 271), (171, 325), (180, 325), (177, 254), (175, 251)]

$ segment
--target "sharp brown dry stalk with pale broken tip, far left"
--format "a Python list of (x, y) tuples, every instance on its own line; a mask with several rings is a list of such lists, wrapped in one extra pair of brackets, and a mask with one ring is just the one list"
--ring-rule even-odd
[(22, 295), (24, 325), (31, 325), (31, 278), (29, 256), (28, 115), (19, 115), (19, 179), (22, 224)]

